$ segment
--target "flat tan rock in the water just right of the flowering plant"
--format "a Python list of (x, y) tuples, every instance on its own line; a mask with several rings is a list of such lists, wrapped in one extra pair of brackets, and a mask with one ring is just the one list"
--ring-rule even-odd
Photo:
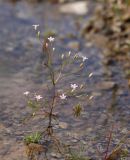
[(109, 89), (113, 89), (116, 86), (117, 84), (112, 81), (104, 81), (97, 84), (97, 88), (100, 90), (109, 90)]

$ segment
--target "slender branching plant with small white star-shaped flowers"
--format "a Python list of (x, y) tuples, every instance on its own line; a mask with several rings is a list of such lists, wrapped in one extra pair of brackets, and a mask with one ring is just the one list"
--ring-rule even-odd
[[(48, 104), (45, 102), (45, 98), (41, 94), (34, 93), (32, 94), (30, 91), (25, 91), (24, 95), (27, 97), (28, 106), (33, 108), (33, 116), (36, 116), (37, 113), (40, 111), (41, 114), (44, 115), (48, 119), (48, 125), (46, 126), (45, 130), (41, 130), (41, 134), (45, 139), (53, 139), (55, 142), (56, 137), (54, 136), (54, 124), (53, 120), (57, 117), (55, 114), (55, 109), (60, 103), (65, 103), (68, 99), (77, 98), (81, 99), (82, 97), (88, 98), (91, 100), (93, 98), (92, 95), (88, 96), (85, 94), (81, 94), (82, 90), (86, 88), (85, 83), (78, 83), (77, 75), (81, 76), (84, 73), (86, 68), (85, 62), (87, 61), (87, 57), (80, 55), (78, 53), (72, 53), (69, 51), (66, 54), (57, 55), (56, 49), (54, 47), (55, 44), (55, 37), (49, 36), (43, 40), (41, 40), (40, 31), (38, 30), (38, 25), (33, 25), (33, 28), (36, 32), (36, 35), (41, 43), (42, 51), (44, 55), (43, 60), (43, 68), (47, 71), (47, 75), (49, 77), (49, 84), (48, 86), (48, 93), (49, 99), (47, 101)], [(58, 65), (57, 65), (58, 61)], [(76, 70), (73, 71), (73, 66), (76, 64)], [(88, 75), (88, 77), (92, 77), (92, 73)], [(74, 76), (76, 78), (74, 78)], [(65, 78), (69, 77), (76, 79), (76, 82), (72, 80), (69, 84), (67, 83), (66, 87), (59, 89), (59, 84), (64, 83)], [(82, 103), (76, 104), (72, 107), (72, 111), (74, 116), (79, 117), (81, 112), (83, 111)], [(30, 137), (30, 136), (29, 136)], [(33, 138), (35, 136), (31, 136)], [(28, 138), (25, 138), (25, 140)], [(33, 140), (31, 140), (33, 141)], [(58, 145), (57, 145), (58, 146)], [(60, 151), (60, 147), (58, 146), (58, 150)], [(61, 152), (61, 151), (60, 151)]]

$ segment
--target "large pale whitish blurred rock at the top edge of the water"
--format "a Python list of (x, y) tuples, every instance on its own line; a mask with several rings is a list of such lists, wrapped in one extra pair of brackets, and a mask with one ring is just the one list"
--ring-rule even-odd
[(71, 2), (60, 6), (61, 13), (86, 15), (88, 12), (87, 3), (85, 1)]

